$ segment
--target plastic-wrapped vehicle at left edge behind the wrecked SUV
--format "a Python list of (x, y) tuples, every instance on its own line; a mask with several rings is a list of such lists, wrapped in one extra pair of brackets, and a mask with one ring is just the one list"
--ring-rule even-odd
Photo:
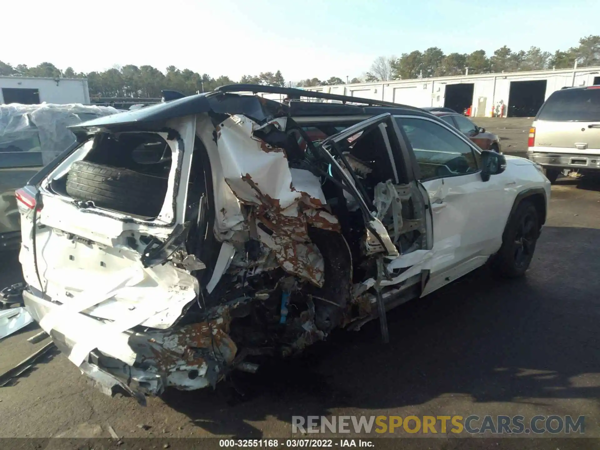
[(19, 248), (21, 241), (14, 191), (76, 142), (68, 125), (116, 112), (81, 104), (0, 106), (0, 251)]

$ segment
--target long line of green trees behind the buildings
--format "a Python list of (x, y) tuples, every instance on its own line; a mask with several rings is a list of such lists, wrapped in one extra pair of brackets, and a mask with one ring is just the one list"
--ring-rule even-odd
[(173, 89), (185, 95), (196, 92), (213, 91), (218, 86), (249, 83), (263, 86), (323, 86), (342, 85), (345, 82), (361, 83), (414, 79), (419, 77), (452, 76), (466, 73), (501, 73), (524, 70), (544, 70), (548, 68), (571, 68), (575, 61), (580, 66), (600, 65), (600, 35), (590, 35), (579, 40), (577, 47), (568, 50), (556, 50), (554, 53), (545, 52), (539, 47), (516, 52), (507, 46), (500, 47), (493, 55), (488, 56), (485, 50), (475, 50), (472, 53), (449, 53), (445, 55), (442, 49), (430, 47), (424, 52), (414, 50), (396, 56), (379, 56), (371, 64), (370, 70), (360, 77), (346, 80), (332, 76), (326, 80), (307, 78), (299, 82), (287, 82), (280, 70), (261, 72), (258, 75), (244, 75), (238, 81), (228, 76), (212, 78), (208, 74), (199, 74), (189, 69), (180, 70), (173, 65), (166, 68), (164, 73), (151, 65), (116, 65), (104, 71), (76, 73), (72, 67), (64, 71), (50, 62), (42, 62), (35, 67), (11, 64), (0, 61), (0, 76), (28, 77), (65, 77), (87, 78), (89, 92), (98, 97), (143, 97), (158, 98), (163, 89)]

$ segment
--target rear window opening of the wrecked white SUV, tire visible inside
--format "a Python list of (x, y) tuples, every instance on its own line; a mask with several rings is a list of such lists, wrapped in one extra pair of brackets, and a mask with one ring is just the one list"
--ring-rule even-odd
[(172, 150), (158, 133), (102, 133), (50, 187), (98, 208), (154, 218), (163, 207), (171, 166)]

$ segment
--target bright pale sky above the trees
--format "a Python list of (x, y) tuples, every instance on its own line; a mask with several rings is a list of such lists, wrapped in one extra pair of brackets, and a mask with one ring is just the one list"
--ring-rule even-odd
[(75, 71), (149, 64), (212, 77), (350, 79), (379, 55), (503, 45), (566, 50), (600, 34), (600, 0), (4, 0), (0, 61)]

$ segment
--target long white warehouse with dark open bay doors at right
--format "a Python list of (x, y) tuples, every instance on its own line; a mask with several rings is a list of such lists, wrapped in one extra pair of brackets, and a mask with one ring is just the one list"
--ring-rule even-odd
[[(470, 108), (470, 115), (473, 117), (533, 117), (554, 91), (565, 86), (591, 85), (600, 85), (600, 67), (394, 80), (303, 89), (416, 107), (445, 106), (460, 113)], [(278, 95), (264, 96), (280, 100)]]

